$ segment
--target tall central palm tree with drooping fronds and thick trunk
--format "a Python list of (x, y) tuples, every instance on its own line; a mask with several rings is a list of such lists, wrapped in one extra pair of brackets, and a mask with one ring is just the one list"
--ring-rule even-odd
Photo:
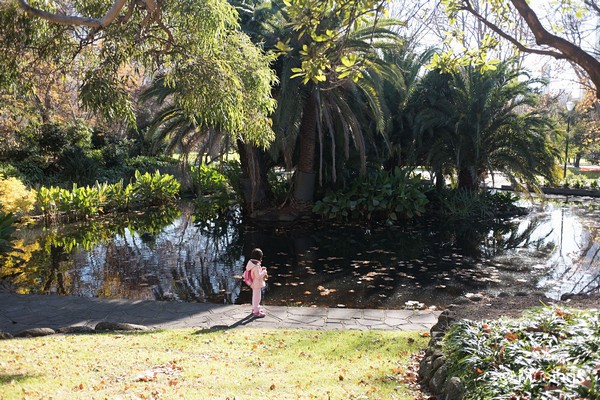
[[(281, 15), (289, 20), (285, 11)], [(398, 74), (395, 66), (384, 63), (378, 53), (398, 45), (399, 36), (391, 29), (398, 25), (397, 21), (373, 19), (368, 24), (354, 22), (349, 27), (339, 25), (340, 19), (334, 17), (334, 12), (332, 9), (331, 18), (323, 18), (319, 26), (320, 31), (337, 38), (327, 52), (320, 54), (329, 57), (326, 61), (329, 67), (321, 71), (323, 75), (316, 73), (316, 77), (309, 79), (307, 72), (298, 73), (307, 62), (302, 54), (310, 52), (307, 49), (314, 44), (314, 35), (289, 29), (283, 32), (289, 35), (286, 41), (289, 50), (279, 64), (278, 108), (273, 117), (275, 148), (284, 154), (285, 160), (296, 160), (292, 162), (296, 166), (292, 201), (299, 208), (313, 201), (317, 161), (319, 183), (323, 185), (324, 179), (335, 182), (354, 145), (360, 173), (365, 172), (366, 135), (383, 134), (389, 119), (383, 102), (384, 78)], [(337, 36), (332, 32), (337, 32)], [(348, 67), (346, 74), (340, 73), (342, 65), (354, 61), (359, 65)], [(343, 149), (341, 157), (338, 149)], [(324, 165), (326, 150), (329, 168)]]

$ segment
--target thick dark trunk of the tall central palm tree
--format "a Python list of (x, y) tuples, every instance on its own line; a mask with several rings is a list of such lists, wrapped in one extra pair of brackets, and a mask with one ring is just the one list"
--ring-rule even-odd
[(295, 176), (294, 200), (312, 203), (315, 194), (315, 148), (317, 134), (317, 108), (314, 90), (304, 103), (300, 122), (300, 159)]

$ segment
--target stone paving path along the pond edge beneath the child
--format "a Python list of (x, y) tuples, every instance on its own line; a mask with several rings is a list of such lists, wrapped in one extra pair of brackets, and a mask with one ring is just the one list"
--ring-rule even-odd
[(250, 305), (109, 300), (73, 296), (0, 293), (0, 331), (12, 335), (32, 328), (94, 328), (102, 321), (152, 329), (356, 329), (428, 332), (440, 312), (265, 306), (254, 318)]

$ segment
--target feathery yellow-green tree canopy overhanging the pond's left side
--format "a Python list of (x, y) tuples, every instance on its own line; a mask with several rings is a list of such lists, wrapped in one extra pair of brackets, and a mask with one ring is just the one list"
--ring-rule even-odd
[[(156, 73), (200, 126), (265, 146), (273, 139), (271, 58), (226, 1), (12, 0), (0, 6), (0, 89), (26, 91), (40, 63), (79, 67), (81, 105), (135, 123), (131, 92)], [(132, 68), (132, 69), (128, 69)]]

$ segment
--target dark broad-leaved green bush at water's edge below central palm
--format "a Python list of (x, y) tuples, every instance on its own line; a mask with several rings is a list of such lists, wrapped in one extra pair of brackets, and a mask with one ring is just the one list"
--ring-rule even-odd
[(315, 203), (313, 212), (325, 219), (342, 222), (385, 222), (388, 225), (425, 212), (428, 203), (420, 175), (409, 169), (379, 172), (361, 178), (347, 190), (327, 194)]

